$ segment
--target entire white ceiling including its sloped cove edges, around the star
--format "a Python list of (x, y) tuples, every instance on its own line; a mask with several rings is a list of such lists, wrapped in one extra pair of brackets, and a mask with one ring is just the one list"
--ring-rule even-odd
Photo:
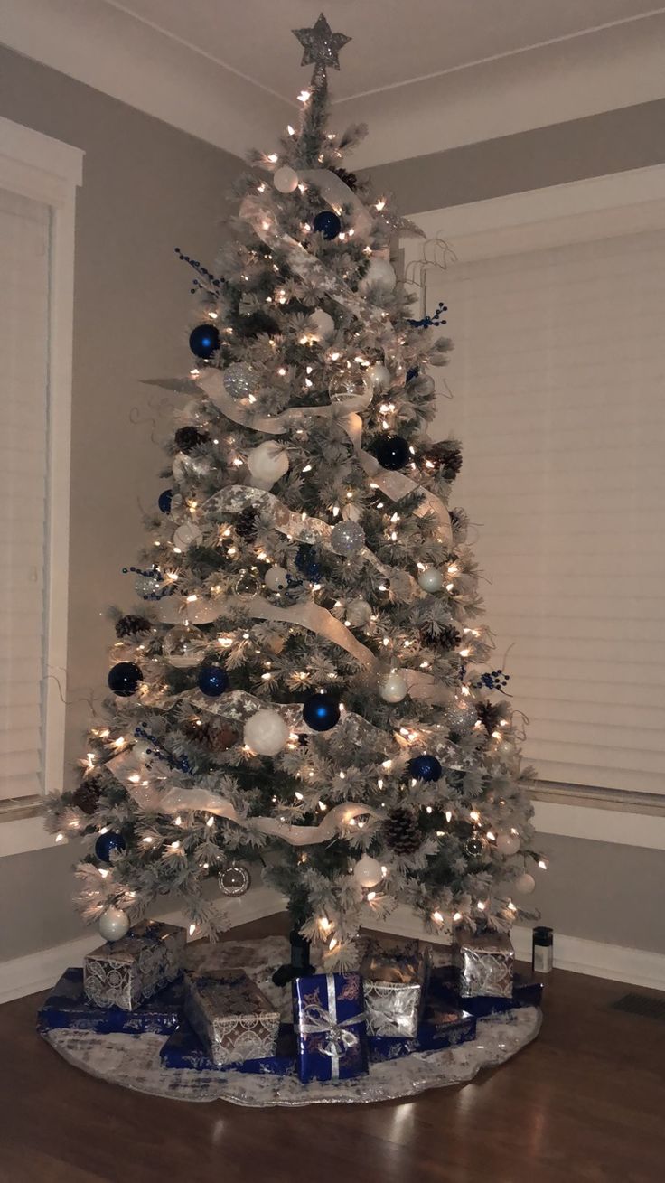
[(369, 166), (665, 96), (648, 0), (14, 0), (0, 39), (243, 155), (309, 80), (291, 30), (321, 7), (351, 37), (334, 122), (366, 119)]

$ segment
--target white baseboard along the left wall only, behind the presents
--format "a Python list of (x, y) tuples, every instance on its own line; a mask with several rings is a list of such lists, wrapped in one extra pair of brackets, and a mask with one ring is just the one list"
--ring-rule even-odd
[[(284, 911), (284, 899), (271, 887), (252, 887), (245, 896), (230, 901), (233, 907), (233, 927), (259, 920), (264, 916), (273, 916)], [(160, 916), (168, 924), (183, 924), (179, 912)], [(70, 965), (80, 965), (85, 953), (99, 944), (99, 933), (89, 932), (76, 940), (54, 945), (52, 949), (40, 949), (27, 957), (14, 957), (13, 961), (0, 962), (0, 1003), (12, 998), (22, 998), (26, 994), (35, 994), (54, 985)]]

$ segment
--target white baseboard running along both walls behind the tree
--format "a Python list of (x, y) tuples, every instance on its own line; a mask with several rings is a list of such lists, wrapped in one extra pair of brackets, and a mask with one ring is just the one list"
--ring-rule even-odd
[[(233, 900), (233, 927), (235, 927), (284, 911), (284, 899), (270, 887), (252, 887), (246, 896)], [(162, 919), (173, 924), (182, 923), (182, 917), (177, 912)], [(403, 906), (395, 909), (387, 920), (373, 920), (369, 926), (398, 936), (432, 940), (432, 933), (426, 932), (419, 918)], [(446, 943), (450, 937), (441, 933), (439, 939)], [(98, 943), (98, 935), (91, 932), (53, 949), (43, 949), (28, 953), (27, 957), (0, 962), (0, 1003), (53, 985), (69, 965), (80, 964), (85, 953)], [(516, 926), (512, 930), (512, 943), (518, 961), (531, 959), (530, 929)], [(627, 949), (624, 945), (607, 945), (600, 940), (583, 940), (580, 937), (555, 933), (554, 964), (557, 969), (572, 970), (574, 974), (589, 974), (612, 982), (665, 990), (665, 953), (650, 952), (646, 949)]]

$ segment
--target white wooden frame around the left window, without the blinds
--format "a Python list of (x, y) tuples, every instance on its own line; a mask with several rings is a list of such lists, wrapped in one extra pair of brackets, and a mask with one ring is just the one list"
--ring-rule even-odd
[[(50, 209), (44, 791), (63, 783), (66, 723), (76, 190), (80, 148), (0, 118), (0, 186)], [(0, 856), (53, 846), (43, 794), (0, 801)]]

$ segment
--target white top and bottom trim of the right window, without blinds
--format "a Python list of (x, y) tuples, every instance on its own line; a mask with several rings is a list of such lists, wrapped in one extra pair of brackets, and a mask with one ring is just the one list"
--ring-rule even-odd
[[(665, 164), (572, 181), (522, 193), (409, 213), (427, 240), (439, 239), (457, 259), (498, 258), (524, 251), (618, 238), (665, 228)], [(445, 252), (424, 254), (421, 238), (403, 238), (403, 269), (415, 285), (420, 316), (432, 312), (427, 276)], [(424, 261), (430, 258), (432, 263)], [(435, 261), (434, 261), (435, 259)], [(531, 797), (542, 833), (665, 849), (661, 794), (538, 781)]]

